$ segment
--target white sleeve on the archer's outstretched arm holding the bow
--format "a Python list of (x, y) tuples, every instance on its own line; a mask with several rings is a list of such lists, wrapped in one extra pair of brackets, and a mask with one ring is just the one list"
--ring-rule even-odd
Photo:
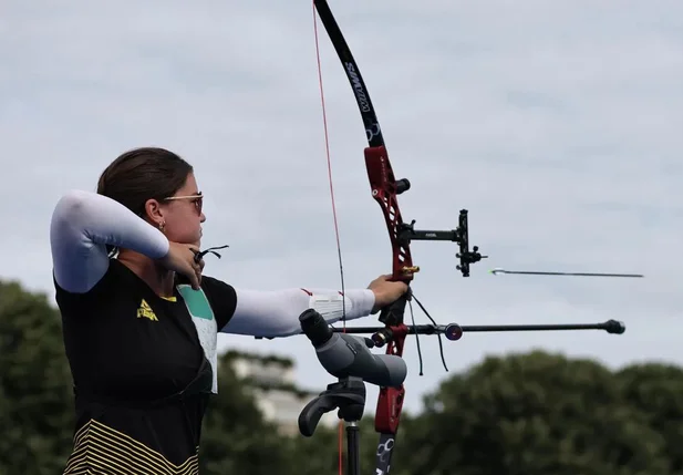
[(315, 309), (333, 323), (346, 312), (346, 320), (366, 317), (375, 303), (369, 289), (346, 290), (342, 307), (340, 292), (328, 289), (286, 289), (258, 291), (235, 289), (237, 307), (230, 321), (220, 329), (223, 333), (253, 337), (290, 337), (301, 333), (299, 316)]

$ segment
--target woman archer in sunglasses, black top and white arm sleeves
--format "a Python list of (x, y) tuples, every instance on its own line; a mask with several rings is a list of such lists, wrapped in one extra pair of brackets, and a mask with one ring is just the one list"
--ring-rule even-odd
[(154, 147), (118, 156), (97, 193), (58, 202), (53, 279), (76, 412), (64, 474), (197, 473), (218, 332), (293, 335), (308, 308), (358, 319), (407, 290), (380, 276), (342, 301), (337, 290), (236, 289), (203, 276), (201, 205), (193, 167)]

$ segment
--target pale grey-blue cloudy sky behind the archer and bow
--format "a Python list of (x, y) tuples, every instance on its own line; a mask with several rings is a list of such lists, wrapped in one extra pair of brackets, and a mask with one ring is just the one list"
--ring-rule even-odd
[[(348, 0), (331, 8), (377, 111), (416, 228), (489, 256), (463, 278), (453, 242), (414, 242), (413, 291), (442, 323), (622, 320), (627, 332), (415, 339), (405, 409), (488, 355), (544, 349), (611, 368), (683, 363), (683, 3)], [(237, 288), (340, 288), (313, 14), (308, 1), (32, 2), (0, 14), (0, 278), (53, 296), (49, 223), (71, 188), (137, 146), (169, 148), (206, 195), (205, 269)], [(319, 22), (346, 288), (391, 271), (351, 87)], [(644, 279), (493, 276), (489, 269)], [(426, 322), (415, 309), (417, 322)], [(369, 317), (351, 324), (375, 324)], [(220, 335), (333, 382), (306, 337)], [(376, 388), (368, 388), (368, 412)]]

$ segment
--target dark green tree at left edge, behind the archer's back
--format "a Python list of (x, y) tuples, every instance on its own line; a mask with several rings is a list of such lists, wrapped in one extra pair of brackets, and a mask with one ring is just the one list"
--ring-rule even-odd
[(61, 319), (41, 293), (0, 281), (0, 473), (61, 473), (73, 436)]

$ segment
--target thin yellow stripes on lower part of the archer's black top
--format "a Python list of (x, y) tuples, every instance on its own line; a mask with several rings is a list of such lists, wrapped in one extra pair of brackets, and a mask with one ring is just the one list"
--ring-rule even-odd
[[(74, 448), (63, 475), (96, 473), (135, 475), (197, 475), (199, 462), (197, 454), (183, 464), (170, 463), (158, 452), (147, 447), (130, 435), (118, 432), (101, 422), (90, 420), (74, 435)], [(197, 452), (199, 447), (197, 447)]]

